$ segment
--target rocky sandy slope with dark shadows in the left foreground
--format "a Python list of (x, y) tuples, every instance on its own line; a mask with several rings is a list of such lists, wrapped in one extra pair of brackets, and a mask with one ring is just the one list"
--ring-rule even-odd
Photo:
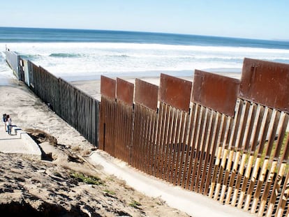
[(81, 160), (71, 167), (15, 154), (0, 160), (1, 216), (186, 216)]

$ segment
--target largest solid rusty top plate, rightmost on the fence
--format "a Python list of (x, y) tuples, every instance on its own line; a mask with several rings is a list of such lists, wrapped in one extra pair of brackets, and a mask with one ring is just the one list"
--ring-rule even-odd
[(289, 112), (289, 64), (244, 59), (239, 96)]

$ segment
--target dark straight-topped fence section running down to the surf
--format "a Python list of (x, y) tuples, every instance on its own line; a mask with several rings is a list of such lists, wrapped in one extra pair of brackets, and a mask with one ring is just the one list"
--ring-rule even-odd
[(6, 61), (18, 80), (27, 84), (59, 117), (98, 147), (98, 100), (15, 52), (6, 50)]

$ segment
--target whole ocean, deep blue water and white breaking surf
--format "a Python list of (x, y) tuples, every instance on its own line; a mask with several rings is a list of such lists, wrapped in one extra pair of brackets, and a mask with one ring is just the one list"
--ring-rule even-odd
[(170, 33), (0, 27), (0, 79), (11, 77), (8, 47), (66, 80), (191, 76), (242, 70), (244, 57), (289, 63), (289, 41)]

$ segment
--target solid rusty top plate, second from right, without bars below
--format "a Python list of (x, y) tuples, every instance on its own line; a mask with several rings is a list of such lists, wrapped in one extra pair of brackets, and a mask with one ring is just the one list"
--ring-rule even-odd
[(195, 70), (192, 100), (232, 117), (235, 113), (239, 80)]

